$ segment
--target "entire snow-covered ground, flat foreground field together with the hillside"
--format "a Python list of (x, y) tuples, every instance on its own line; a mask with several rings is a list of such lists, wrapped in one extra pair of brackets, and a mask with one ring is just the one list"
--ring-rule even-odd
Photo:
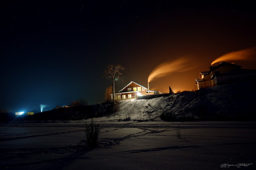
[(120, 111), (94, 118), (101, 128), (96, 148), (85, 145), (85, 121), (90, 120), (0, 122), (0, 168), (256, 169), (256, 122), (159, 119), (166, 112), (253, 113), (254, 84), (123, 100)]

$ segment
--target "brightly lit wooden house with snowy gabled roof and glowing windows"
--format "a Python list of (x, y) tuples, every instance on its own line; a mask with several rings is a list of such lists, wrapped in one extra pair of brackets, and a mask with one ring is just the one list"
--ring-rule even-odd
[[(149, 88), (131, 81), (128, 85), (118, 91), (118, 93), (115, 93), (115, 100), (138, 99), (138, 96), (155, 93), (156, 91), (150, 91)], [(111, 98), (113, 99), (113, 94), (111, 94)]]

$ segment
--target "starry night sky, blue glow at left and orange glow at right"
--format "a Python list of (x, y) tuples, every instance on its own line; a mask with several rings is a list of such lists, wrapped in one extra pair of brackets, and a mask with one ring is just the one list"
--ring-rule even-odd
[[(8, 112), (101, 103), (108, 64), (125, 68), (116, 92), (131, 81), (147, 87), (166, 62), (173, 70), (150, 90), (192, 90), (213, 60), (256, 47), (255, 1), (8, 3), (0, 6), (0, 109)], [(225, 62), (256, 69), (254, 58)]]

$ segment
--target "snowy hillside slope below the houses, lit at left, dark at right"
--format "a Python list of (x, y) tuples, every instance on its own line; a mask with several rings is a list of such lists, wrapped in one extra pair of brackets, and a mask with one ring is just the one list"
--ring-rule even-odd
[[(156, 120), (163, 114), (198, 120), (255, 119), (255, 81), (219, 85), (196, 92), (147, 96), (148, 99), (121, 100), (119, 120)], [(150, 98), (151, 97), (151, 98)]]

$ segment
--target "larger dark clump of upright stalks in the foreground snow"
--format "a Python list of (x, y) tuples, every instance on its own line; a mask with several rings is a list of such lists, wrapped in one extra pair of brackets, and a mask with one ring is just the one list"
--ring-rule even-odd
[(85, 134), (87, 140), (87, 146), (95, 147), (97, 146), (98, 137), (100, 135), (99, 123), (95, 124), (93, 122), (93, 118), (91, 119), (91, 123), (88, 125), (85, 121)]

